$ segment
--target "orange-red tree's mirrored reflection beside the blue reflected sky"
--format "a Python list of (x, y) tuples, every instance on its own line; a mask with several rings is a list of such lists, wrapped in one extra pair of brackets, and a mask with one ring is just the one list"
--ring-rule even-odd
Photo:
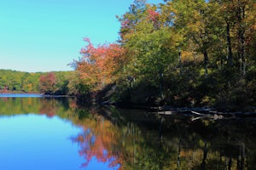
[(80, 145), (79, 154), (85, 158), (83, 166), (86, 167), (96, 157), (97, 161), (108, 162), (110, 167), (120, 167), (122, 156), (119, 151), (119, 128), (103, 116), (97, 115), (94, 110), (77, 111), (81, 118), (77, 123), (84, 131), (74, 137), (73, 141)]

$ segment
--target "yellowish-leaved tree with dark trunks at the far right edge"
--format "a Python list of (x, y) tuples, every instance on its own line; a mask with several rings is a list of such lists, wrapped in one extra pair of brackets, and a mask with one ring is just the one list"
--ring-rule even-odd
[(253, 33), (255, 35), (255, 3), (252, 0), (216, 0), (224, 19), (227, 59), (229, 66), (236, 66), (245, 76), (248, 57), (252, 57)]

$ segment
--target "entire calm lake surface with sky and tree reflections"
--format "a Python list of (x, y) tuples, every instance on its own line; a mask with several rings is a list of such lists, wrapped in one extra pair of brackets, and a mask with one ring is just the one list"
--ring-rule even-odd
[(0, 169), (256, 169), (255, 127), (0, 94)]

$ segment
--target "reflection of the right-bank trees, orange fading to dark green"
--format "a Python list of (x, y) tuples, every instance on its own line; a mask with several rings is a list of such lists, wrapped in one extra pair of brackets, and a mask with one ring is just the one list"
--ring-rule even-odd
[[(88, 114), (90, 116), (88, 116)], [(124, 169), (247, 169), (256, 139), (247, 122), (158, 117), (140, 111), (93, 110), (74, 141), (87, 162), (96, 156)]]

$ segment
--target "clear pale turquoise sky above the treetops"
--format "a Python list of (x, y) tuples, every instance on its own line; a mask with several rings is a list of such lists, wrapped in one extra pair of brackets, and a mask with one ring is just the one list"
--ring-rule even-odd
[[(148, 3), (161, 3), (148, 0)], [(71, 71), (83, 37), (115, 42), (133, 0), (0, 0), (0, 69)]]

